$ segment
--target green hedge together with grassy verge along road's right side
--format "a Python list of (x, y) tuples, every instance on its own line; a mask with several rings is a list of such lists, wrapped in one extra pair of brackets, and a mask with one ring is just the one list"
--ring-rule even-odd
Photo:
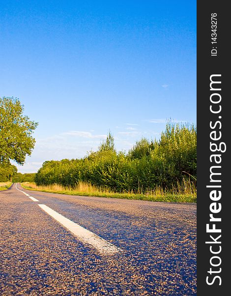
[(82, 159), (45, 161), (35, 175), (34, 189), (195, 202), (196, 148), (194, 125), (168, 122), (158, 141), (142, 138), (128, 153), (115, 150), (109, 133), (97, 151)]

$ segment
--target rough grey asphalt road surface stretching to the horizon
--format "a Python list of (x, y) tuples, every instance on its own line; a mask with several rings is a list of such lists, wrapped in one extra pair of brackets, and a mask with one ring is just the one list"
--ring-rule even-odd
[[(17, 186), (38, 201), (15, 184), (0, 191), (0, 295), (196, 295), (196, 204)], [(97, 249), (39, 204), (119, 252)]]

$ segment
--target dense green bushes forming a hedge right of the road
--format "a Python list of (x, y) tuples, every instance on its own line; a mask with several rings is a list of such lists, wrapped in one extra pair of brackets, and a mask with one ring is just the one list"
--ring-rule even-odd
[(143, 138), (126, 155), (115, 151), (114, 138), (109, 133), (98, 151), (85, 158), (44, 162), (35, 182), (73, 188), (87, 182), (116, 192), (172, 188), (182, 180), (196, 178), (196, 136), (193, 125), (168, 122), (159, 141)]

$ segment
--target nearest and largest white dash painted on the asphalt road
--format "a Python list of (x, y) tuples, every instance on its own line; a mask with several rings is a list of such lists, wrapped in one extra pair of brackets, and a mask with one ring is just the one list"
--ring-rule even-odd
[(46, 205), (38, 204), (38, 206), (43, 209), (47, 214), (56, 219), (59, 223), (69, 229), (74, 233), (83, 243), (87, 243), (93, 246), (102, 254), (115, 254), (121, 252), (122, 250), (113, 244), (109, 243), (100, 236), (94, 234), (93, 232), (85, 229), (79, 224), (65, 218), (64, 216), (58, 214), (56, 211), (52, 210)]

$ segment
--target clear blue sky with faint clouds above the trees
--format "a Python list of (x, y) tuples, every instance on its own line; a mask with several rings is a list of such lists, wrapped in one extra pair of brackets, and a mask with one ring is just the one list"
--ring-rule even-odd
[(39, 122), (22, 173), (196, 123), (196, 0), (1, 1), (0, 97)]

